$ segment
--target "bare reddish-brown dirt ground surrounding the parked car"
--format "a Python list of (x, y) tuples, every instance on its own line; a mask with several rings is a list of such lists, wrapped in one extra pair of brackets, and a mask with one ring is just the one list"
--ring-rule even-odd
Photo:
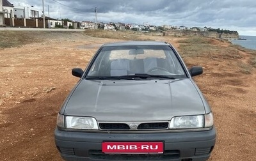
[[(181, 48), (184, 38), (145, 38), (170, 42), (188, 66), (204, 66), (204, 74), (195, 81), (209, 100), (218, 133), (209, 160), (256, 160), (252, 54), (211, 39), (218, 52), (189, 57)], [(54, 128), (63, 100), (78, 81), (71, 69), (84, 69), (102, 43), (116, 41), (120, 40), (48, 33), (42, 41), (0, 49), (0, 160), (61, 160)]]

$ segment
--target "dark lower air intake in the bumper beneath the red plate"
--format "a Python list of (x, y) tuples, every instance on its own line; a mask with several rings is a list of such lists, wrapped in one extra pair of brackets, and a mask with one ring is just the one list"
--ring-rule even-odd
[(105, 154), (100, 150), (89, 150), (89, 157), (100, 160), (172, 160), (180, 158), (179, 150), (166, 150), (163, 154)]

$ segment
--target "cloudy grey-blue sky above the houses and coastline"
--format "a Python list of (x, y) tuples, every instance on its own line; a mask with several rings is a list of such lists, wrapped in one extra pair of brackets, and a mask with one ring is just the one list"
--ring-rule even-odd
[[(42, 13), (42, 1), (8, 0), (15, 7), (34, 6)], [(162, 26), (212, 27), (256, 36), (255, 0), (44, 0), (45, 15), (54, 19), (95, 20)]]

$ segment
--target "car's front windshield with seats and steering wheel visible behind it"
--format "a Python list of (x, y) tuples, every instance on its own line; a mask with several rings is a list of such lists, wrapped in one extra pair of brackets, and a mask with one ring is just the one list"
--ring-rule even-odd
[(132, 45), (103, 47), (88, 77), (124, 77), (147, 74), (150, 76), (184, 76), (185, 72), (173, 50), (166, 45)]

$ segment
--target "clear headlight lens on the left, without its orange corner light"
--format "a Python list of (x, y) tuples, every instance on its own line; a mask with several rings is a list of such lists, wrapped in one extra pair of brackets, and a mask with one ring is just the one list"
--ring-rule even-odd
[(95, 118), (66, 116), (66, 128), (98, 130)]

